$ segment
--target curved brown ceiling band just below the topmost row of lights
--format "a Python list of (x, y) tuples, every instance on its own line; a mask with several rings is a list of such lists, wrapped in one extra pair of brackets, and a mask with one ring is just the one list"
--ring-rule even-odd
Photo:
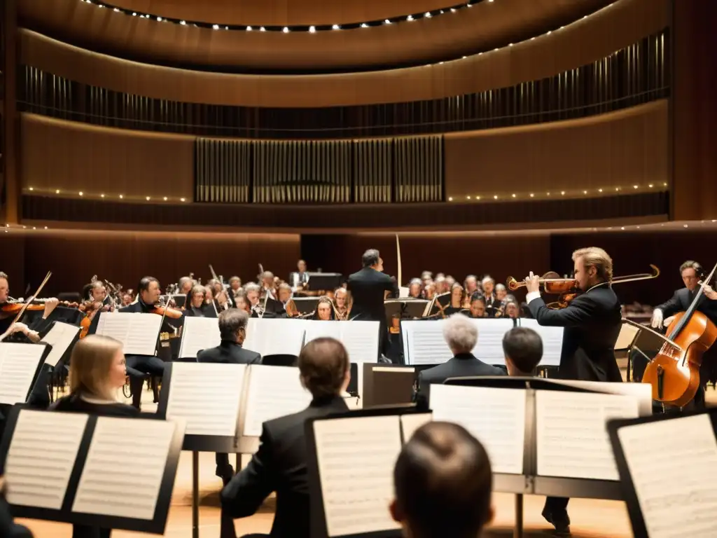
[(557, 29), (605, 4), (609, 0), (500, 0), (407, 24), (315, 34), (214, 31), (125, 16), (77, 0), (23, 0), (18, 13), (29, 29), (128, 60), (224, 72), (296, 73), (460, 58)]

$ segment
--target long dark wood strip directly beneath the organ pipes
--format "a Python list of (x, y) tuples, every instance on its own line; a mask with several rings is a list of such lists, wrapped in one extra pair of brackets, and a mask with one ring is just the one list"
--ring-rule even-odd
[[(320, 230), (471, 230), (518, 224), (574, 223), (666, 215), (668, 193), (505, 202), (493, 204), (129, 204), (90, 199), (24, 196), (23, 217), (32, 221), (103, 223), (110, 226), (161, 225), (223, 227), (228, 230), (292, 232)], [(91, 225), (91, 224), (90, 224)]]

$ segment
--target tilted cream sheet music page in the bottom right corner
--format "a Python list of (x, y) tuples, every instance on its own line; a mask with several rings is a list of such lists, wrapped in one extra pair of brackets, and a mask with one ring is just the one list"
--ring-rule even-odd
[(710, 415), (617, 430), (650, 538), (707, 537), (717, 513), (717, 440)]

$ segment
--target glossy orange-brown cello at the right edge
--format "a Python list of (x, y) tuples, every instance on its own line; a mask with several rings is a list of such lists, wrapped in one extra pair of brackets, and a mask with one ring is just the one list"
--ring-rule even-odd
[(652, 400), (684, 407), (692, 401), (700, 387), (702, 356), (717, 341), (717, 326), (698, 311), (697, 306), (715, 270), (717, 265), (700, 282), (687, 311), (675, 314), (665, 343), (642, 374), (642, 382), (652, 385)]

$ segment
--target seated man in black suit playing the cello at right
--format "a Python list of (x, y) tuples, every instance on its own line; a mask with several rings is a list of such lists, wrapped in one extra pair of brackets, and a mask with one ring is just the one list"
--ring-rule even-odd
[[(692, 301), (694, 301), (699, 291), (699, 282), (705, 277), (705, 274), (702, 265), (693, 260), (688, 260), (680, 265), (680, 276), (682, 276), (685, 287), (675, 291), (669, 301), (658, 305), (652, 311), (651, 324), (655, 329), (662, 329), (663, 326), (669, 326), (676, 313), (685, 312), (690, 308)], [(703, 313), (713, 324), (717, 325), (717, 293), (713, 291), (711, 286), (705, 286), (703, 296), (698, 299), (697, 311)], [(705, 405), (704, 387), (711, 378), (715, 377), (711, 372), (716, 366), (716, 359), (716, 346), (708, 349), (702, 357), (700, 388), (694, 398), (696, 407), (704, 407)]]

